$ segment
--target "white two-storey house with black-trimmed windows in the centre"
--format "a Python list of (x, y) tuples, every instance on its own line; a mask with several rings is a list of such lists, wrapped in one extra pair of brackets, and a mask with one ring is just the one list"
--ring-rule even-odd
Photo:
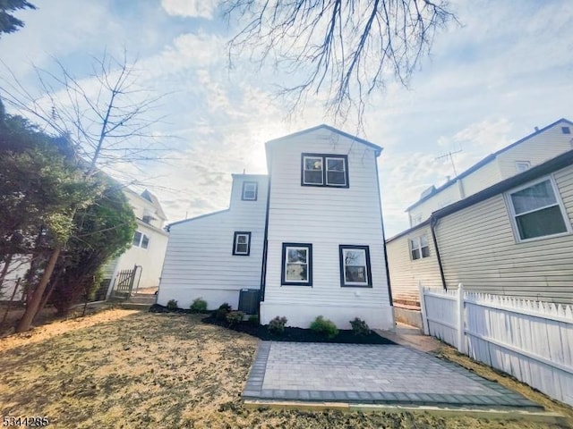
[(236, 307), (241, 289), (260, 289), (261, 324), (323, 315), (392, 329), (380, 154), (327, 125), (269, 141), (268, 177), (235, 174), (227, 210), (170, 225), (158, 304)]

